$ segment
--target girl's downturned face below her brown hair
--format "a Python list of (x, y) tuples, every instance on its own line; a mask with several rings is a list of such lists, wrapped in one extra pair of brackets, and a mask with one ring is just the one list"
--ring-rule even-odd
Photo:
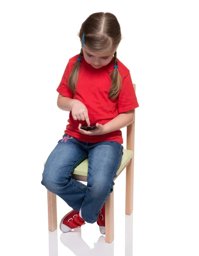
[(104, 52), (104, 53), (95, 53), (89, 51), (89, 49), (85, 46), (82, 47), (84, 59), (90, 64), (92, 67), (99, 69), (103, 66), (106, 66), (112, 61), (112, 56), (114, 52)]

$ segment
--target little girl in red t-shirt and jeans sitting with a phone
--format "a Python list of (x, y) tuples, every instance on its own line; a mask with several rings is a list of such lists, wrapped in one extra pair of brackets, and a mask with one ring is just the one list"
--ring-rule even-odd
[[(46, 161), (41, 183), (72, 207), (61, 220), (62, 232), (97, 221), (104, 234), (105, 201), (123, 156), (120, 129), (133, 122), (139, 105), (130, 71), (117, 59), (121, 29), (115, 15), (90, 15), (78, 36), (81, 52), (69, 59), (57, 88), (57, 105), (70, 111), (69, 124)], [(72, 172), (87, 158), (86, 186)]]

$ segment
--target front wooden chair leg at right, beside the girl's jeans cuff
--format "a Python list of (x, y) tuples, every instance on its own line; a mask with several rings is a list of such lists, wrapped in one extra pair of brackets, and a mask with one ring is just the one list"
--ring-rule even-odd
[[(114, 186), (113, 186), (114, 189)], [(114, 240), (114, 190), (105, 202), (105, 241), (112, 243)]]

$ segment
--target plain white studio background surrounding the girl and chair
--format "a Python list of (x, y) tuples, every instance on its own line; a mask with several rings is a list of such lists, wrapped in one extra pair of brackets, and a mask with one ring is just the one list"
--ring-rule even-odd
[[(56, 88), (69, 58), (80, 52), (81, 24), (94, 12), (118, 18), (118, 59), (136, 84), (133, 256), (198, 256), (199, 9), (193, 0), (1, 1), (1, 255), (88, 255), (78, 239), (80, 254), (69, 250), (59, 229), (49, 252), (40, 181), (69, 116), (57, 107)], [(114, 189), (114, 256), (125, 250), (131, 256), (132, 241), (125, 249), (124, 236), (125, 172)], [(57, 202), (59, 224), (71, 209)], [(81, 233), (90, 248), (101, 236), (97, 224)], [(113, 247), (106, 248), (113, 255)]]

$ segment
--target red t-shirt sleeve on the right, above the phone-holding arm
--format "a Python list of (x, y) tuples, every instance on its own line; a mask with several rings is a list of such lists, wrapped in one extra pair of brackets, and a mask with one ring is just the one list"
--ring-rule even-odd
[(118, 96), (118, 112), (123, 113), (138, 107), (136, 92), (129, 73), (121, 85), (121, 91)]

